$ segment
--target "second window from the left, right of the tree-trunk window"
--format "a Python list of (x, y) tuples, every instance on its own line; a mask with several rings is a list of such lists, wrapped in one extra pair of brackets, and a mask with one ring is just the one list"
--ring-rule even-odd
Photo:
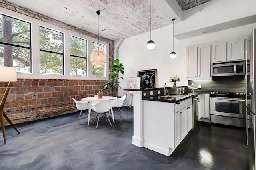
[(63, 33), (39, 27), (40, 73), (63, 75)]

